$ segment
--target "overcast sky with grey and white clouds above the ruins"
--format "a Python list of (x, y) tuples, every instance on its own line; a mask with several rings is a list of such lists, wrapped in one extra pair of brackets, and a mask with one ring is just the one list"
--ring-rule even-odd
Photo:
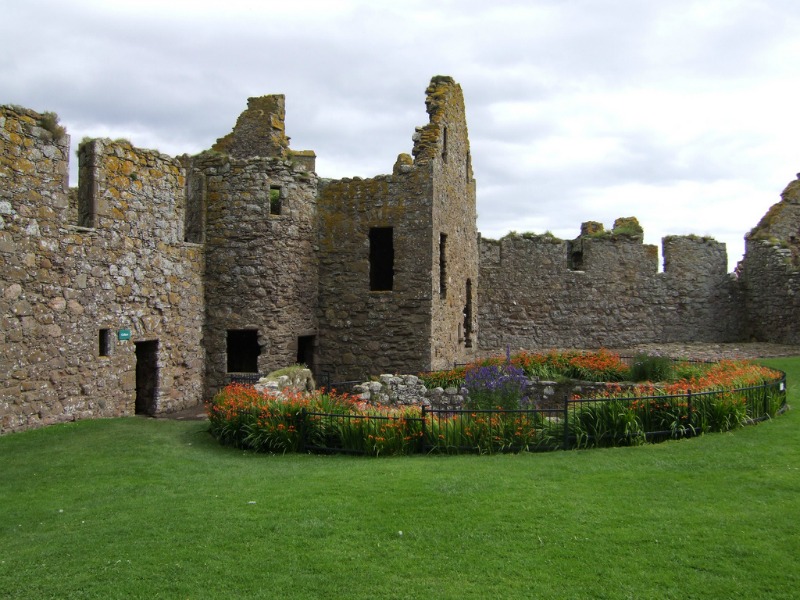
[[(728, 245), (800, 171), (797, 0), (2, 0), (0, 103), (171, 155), (286, 95), (323, 177), (391, 172), (433, 75), (467, 105), (484, 237), (636, 216)], [(73, 171), (74, 173), (74, 171)], [(71, 184), (77, 182), (73, 178)]]

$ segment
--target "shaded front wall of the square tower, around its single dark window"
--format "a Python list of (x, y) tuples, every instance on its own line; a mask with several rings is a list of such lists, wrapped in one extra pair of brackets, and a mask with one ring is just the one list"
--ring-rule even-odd
[[(431, 180), (427, 165), (320, 186), (322, 381), (428, 368)], [(391, 289), (371, 285), (370, 230), (391, 228)], [(376, 265), (373, 265), (376, 266)], [(380, 267), (377, 265), (376, 267)]]

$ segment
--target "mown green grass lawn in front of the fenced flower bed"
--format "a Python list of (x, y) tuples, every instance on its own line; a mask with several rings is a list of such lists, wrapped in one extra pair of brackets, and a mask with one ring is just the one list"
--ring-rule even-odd
[[(800, 358), (764, 362), (800, 404)], [(501, 456), (256, 455), (206, 427), (127, 418), (0, 438), (0, 597), (800, 589), (797, 409), (690, 440)]]

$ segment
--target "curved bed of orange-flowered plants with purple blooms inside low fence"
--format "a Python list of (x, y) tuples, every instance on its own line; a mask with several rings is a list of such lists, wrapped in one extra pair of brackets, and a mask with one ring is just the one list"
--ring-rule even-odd
[[(630, 369), (607, 351), (507, 353), (423, 376), (429, 386), (465, 389), (460, 410), (369, 405), (335, 391), (274, 395), (231, 385), (208, 405), (210, 430), (223, 444), (264, 452), (518, 452), (728, 431), (770, 418), (785, 404), (780, 371), (745, 361), (669, 361), (667, 370), (656, 359), (636, 359)], [(663, 374), (663, 380), (630, 382), (637, 361), (649, 365), (642, 372)], [(605, 376), (607, 382), (591, 397), (537, 408), (525, 398), (529, 379), (538, 376), (533, 373)]]

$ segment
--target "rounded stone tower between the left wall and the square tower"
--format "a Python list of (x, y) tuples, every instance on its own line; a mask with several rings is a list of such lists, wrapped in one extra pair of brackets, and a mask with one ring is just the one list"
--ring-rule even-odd
[(233, 131), (184, 158), (187, 233), (205, 248), (206, 383), (304, 362), (317, 345), (314, 153), (289, 148), (282, 95), (250, 98)]

